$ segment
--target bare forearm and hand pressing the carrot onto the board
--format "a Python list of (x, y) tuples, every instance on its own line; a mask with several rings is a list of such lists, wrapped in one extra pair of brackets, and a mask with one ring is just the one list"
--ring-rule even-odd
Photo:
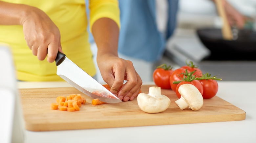
[[(97, 63), (102, 78), (111, 92), (123, 101), (133, 100), (138, 94), (142, 80), (131, 61), (117, 55), (119, 28), (109, 18), (100, 18), (92, 25), (92, 34), (98, 47)], [(118, 92), (124, 80), (127, 82)]]

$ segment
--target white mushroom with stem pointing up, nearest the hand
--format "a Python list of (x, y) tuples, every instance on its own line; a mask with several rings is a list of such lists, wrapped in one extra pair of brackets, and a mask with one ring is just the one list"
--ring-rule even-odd
[(171, 103), (167, 96), (161, 95), (160, 87), (149, 87), (148, 94), (139, 93), (137, 101), (139, 108), (146, 113), (163, 112)]

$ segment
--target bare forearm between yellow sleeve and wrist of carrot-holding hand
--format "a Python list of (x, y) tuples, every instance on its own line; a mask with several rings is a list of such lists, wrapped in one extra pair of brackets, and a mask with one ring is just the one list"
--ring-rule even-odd
[(118, 56), (118, 25), (109, 18), (100, 18), (92, 26), (92, 34), (98, 48), (98, 56), (111, 54)]

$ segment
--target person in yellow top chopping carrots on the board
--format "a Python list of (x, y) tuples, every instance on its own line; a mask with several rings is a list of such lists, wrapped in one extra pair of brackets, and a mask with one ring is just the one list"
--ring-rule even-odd
[[(117, 54), (118, 1), (90, 0), (89, 8), (90, 30), (98, 48), (101, 75), (119, 99), (133, 100), (142, 81), (132, 62)], [(10, 45), (17, 79), (21, 81), (61, 81), (53, 63), (58, 51), (95, 76), (86, 29), (84, 0), (0, 1), (0, 42)], [(127, 82), (117, 94), (124, 80)]]

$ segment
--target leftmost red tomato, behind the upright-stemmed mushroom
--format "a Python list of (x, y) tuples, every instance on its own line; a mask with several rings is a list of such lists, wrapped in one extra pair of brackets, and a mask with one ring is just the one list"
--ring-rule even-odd
[(158, 87), (161, 87), (163, 89), (171, 89), (169, 79), (172, 73), (172, 69), (165, 70), (163, 68), (157, 68), (153, 72), (153, 80)]

